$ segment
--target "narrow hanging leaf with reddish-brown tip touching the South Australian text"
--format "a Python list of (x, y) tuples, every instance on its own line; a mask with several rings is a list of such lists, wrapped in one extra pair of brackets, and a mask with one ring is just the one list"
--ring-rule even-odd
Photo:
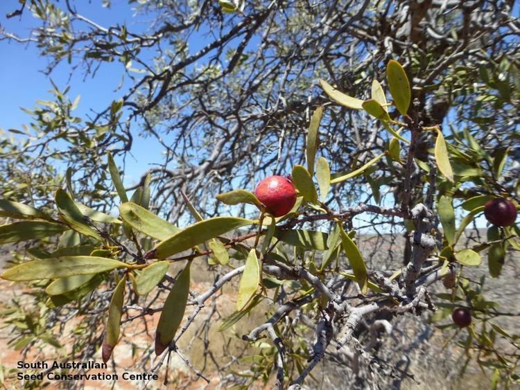
[(119, 328), (121, 327), (121, 314), (123, 314), (123, 301), (125, 296), (126, 275), (117, 283), (108, 306), (108, 319), (105, 326), (105, 337), (103, 337), (103, 348), (101, 357), (103, 362), (108, 362), (114, 346), (119, 341)]

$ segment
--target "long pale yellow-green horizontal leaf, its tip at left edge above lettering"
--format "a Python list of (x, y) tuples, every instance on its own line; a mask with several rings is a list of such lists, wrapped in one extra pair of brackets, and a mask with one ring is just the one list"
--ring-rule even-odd
[(8, 281), (35, 281), (66, 276), (97, 274), (110, 269), (128, 267), (125, 263), (111, 258), (92, 256), (62, 256), (28, 261), (6, 269), (1, 278)]

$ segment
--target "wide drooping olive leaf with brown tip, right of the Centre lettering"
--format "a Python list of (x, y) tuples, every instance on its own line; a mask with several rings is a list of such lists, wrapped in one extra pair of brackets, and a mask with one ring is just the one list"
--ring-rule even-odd
[(188, 303), (190, 266), (191, 263), (188, 263), (184, 267), (175, 284), (171, 287), (166, 302), (164, 302), (161, 317), (159, 317), (159, 323), (157, 323), (157, 333), (155, 334), (156, 355), (160, 355), (171, 343), (184, 317)]

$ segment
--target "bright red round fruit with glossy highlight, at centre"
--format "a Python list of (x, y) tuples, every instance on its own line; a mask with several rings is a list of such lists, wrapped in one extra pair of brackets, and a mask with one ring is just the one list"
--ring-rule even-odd
[(260, 181), (254, 195), (257, 195), (258, 200), (275, 217), (286, 215), (296, 203), (293, 182), (283, 176), (266, 177)]

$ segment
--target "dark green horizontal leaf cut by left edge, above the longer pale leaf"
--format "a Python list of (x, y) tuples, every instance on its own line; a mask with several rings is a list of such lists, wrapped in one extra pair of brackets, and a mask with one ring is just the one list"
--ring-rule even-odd
[(43, 221), (14, 222), (0, 226), (0, 244), (55, 236), (69, 230), (64, 224)]

